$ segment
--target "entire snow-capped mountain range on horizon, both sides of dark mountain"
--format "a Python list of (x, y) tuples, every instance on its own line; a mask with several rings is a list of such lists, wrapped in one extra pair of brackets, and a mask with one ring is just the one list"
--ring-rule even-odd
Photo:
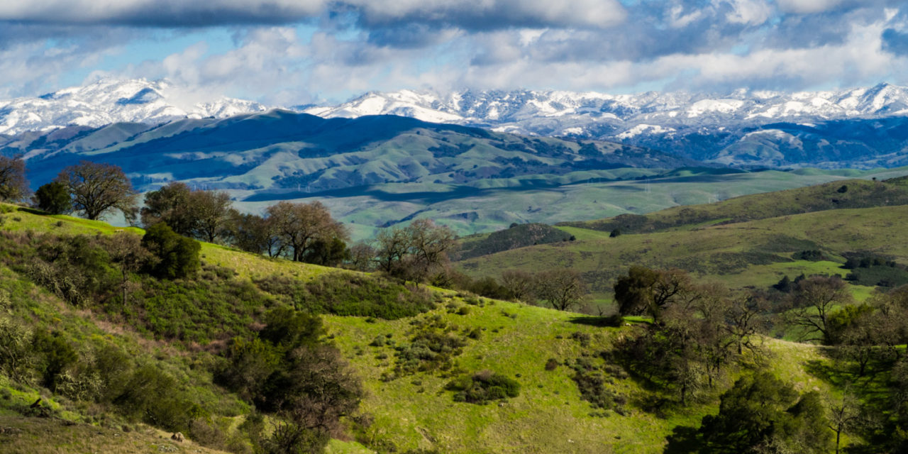
[[(156, 125), (226, 118), (272, 106), (199, 94), (166, 81), (104, 80), (0, 101), (0, 136), (65, 126)], [(908, 88), (730, 94), (403, 90), (340, 105), (293, 106), (325, 118), (400, 115), (496, 132), (638, 145), (737, 166), (873, 168), (908, 164)]]

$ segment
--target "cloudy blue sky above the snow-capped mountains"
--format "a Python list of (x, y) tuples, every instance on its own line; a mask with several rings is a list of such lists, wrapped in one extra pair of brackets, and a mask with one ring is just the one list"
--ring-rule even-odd
[(280, 105), (400, 89), (908, 84), (908, 1), (0, 2), (0, 97), (111, 77)]

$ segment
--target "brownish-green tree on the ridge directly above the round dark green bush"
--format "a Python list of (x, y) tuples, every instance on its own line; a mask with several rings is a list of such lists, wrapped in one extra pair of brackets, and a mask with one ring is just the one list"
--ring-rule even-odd
[(142, 223), (151, 227), (164, 222), (183, 236), (192, 236), (196, 228), (195, 210), (190, 204), (192, 191), (186, 183), (167, 183), (157, 191), (145, 194), (145, 206), (142, 208)]

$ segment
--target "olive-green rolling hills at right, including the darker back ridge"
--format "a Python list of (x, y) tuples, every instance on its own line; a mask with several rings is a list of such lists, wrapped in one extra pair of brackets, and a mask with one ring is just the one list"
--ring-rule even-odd
[[(844, 192), (842, 188), (846, 187)], [(472, 276), (501, 271), (573, 268), (597, 298), (631, 265), (679, 268), (733, 288), (768, 288), (785, 275), (839, 274), (847, 254), (874, 254), (908, 263), (903, 179), (851, 180), (748, 195), (643, 216), (623, 215), (560, 226), (574, 242), (539, 244), (474, 257), (458, 266)], [(621, 232), (612, 237), (612, 231)], [(797, 254), (822, 251), (824, 261)], [(870, 288), (855, 286), (864, 298)]]

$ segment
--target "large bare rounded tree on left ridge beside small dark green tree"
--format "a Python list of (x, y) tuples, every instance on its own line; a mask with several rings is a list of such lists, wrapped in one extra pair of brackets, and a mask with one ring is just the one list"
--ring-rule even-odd
[(131, 220), (138, 211), (133, 184), (116, 165), (83, 161), (64, 168), (55, 181), (66, 185), (73, 195), (74, 209), (90, 220), (114, 209)]

